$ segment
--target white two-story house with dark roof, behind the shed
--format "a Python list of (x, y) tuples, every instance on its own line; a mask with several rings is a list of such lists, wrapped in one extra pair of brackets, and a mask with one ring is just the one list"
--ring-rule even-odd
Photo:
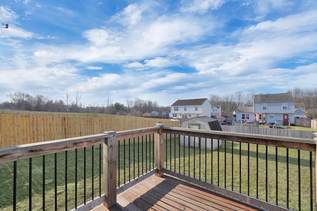
[(170, 107), (172, 119), (211, 117), (211, 104), (207, 98), (177, 100)]

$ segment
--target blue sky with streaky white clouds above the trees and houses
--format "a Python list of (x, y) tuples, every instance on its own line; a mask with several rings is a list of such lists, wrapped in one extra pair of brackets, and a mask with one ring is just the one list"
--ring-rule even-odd
[(0, 102), (317, 88), (316, 0), (1, 0), (0, 22)]

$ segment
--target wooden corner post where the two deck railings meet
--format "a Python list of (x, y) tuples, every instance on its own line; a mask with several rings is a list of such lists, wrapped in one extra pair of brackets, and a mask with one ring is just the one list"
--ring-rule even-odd
[[(162, 126), (161, 122), (157, 122), (157, 126)], [(163, 162), (164, 162), (164, 142), (163, 132), (160, 127), (155, 133), (155, 166), (158, 169), (156, 176), (163, 176)]]

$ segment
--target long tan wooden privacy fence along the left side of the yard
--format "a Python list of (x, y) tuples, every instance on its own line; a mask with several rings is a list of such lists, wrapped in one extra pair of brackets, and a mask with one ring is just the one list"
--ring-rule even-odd
[(179, 127), (178, 121), (142, 117), (107, 115), (108, 118), (0, 114), (0, 147), (31, 144), (143, 127), (161, 121), (165, 126)]

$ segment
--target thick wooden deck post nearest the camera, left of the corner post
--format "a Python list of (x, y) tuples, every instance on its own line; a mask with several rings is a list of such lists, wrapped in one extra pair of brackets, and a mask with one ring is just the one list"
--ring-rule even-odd
[(116, 188), (116, 135), (114, 131), (104, 132), (112, 135), (106, 138), (104, 151), (104, 206), (108, 209), (117, 203), (117, 188)]

